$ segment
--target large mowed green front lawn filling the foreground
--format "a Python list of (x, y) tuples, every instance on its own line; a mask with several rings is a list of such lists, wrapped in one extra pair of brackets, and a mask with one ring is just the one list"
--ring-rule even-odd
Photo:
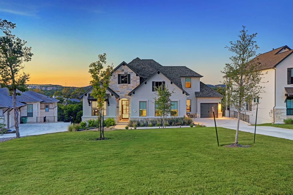
[[(218, 128), (63, 132), (0, 143), (0, 194), (293, 194), (293, 141)], [(240, 144), (253, 134), (239, 131)]]

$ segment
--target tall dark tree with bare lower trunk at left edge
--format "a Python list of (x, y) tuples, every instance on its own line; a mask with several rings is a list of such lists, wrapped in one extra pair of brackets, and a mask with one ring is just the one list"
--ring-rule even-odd
[(11, 34), (15, 24), (1, 19), (0, 28), (5, 34), (0, 37), (0, 85), (2, 88), (8, 88), (13, 96), (14, 126), (16, 138), (19, 138), (16, 95), (20, 95), (18, 91), (27, 90), (25, 83), (29, 81), (29, 74), (23, 72), (22, 63), (30, 61), (33, 53), (31, 53), (31, 47), (25, 46), (26, 41)]

